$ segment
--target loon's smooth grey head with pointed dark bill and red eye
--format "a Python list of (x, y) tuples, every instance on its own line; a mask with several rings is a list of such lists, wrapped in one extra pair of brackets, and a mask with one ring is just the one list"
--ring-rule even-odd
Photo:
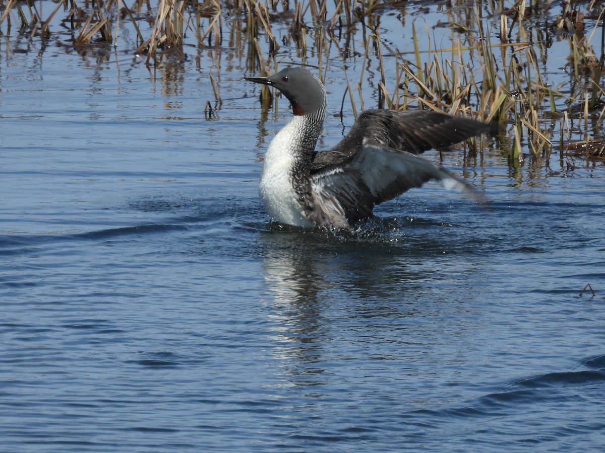
[(284, 68), (268, 77), (244, 77), (250, 82), (274, 86), (292, 103), (295, 115), (313, 115), (325, 109), (324, 84), (304, 68)]

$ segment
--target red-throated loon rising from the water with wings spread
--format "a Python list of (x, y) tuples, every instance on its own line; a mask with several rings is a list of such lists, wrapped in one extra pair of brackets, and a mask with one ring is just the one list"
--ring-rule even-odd
[(366, 110), (340, 143), (317, 152), (324, 123), (324, 85), (307, 69), (244, 77), (280, 90), (293, 118), (269, 144), (258, 188), (269, 215), (288, 225), (349, 228), (372, 216), (374, 205), (431, 179), (468, 188), (417, 156), (490, 129), (489, 124), (434, 111)]

